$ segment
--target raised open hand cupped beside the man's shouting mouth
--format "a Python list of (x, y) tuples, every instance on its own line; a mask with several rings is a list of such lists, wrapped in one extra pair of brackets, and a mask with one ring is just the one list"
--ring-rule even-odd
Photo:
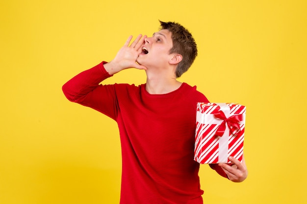
[(126, 68), (147, 69), (145, 66), (139, 65), (136, 62), (137, 57), (142, 52), (142, 45), (146, 35), (138, 35), (137, 38), (129, 46), (132, 36), (129, 36), (125, 45), (117, 52), (115, 58), (104, 65), (105, 70), (110, 74), (115, 74)]

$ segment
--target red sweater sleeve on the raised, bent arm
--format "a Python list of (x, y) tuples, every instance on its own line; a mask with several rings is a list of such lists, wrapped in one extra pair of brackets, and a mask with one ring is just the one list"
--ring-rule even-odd
[(115, 119), (117, 99), (114, 87), (100, 84), (112, 76), (104, 69), (105, 63), (77, 74), (63, 85), (62, 90), (69, 101), (93, 108)]

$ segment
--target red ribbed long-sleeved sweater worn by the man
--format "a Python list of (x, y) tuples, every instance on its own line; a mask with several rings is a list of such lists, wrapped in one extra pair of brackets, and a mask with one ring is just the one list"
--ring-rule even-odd
[[(122, 145), (121, 204), (203, 204), (193, 160), (196, 103), (205, 95), (182, 83), (167, 94), (146, 85), (100, 85), (110, 77), (105, 62), (63, 86), (72, 102), (91, 107), (118, 123)], [(217, 166), (211, 166), (215, 169)], [(216, 168), (223, 174), (220, 168)]]

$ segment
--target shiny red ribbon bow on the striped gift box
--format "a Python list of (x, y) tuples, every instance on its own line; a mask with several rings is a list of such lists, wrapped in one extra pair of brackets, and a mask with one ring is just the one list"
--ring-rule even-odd
[[(229, 127), (229, 130), (231, 131), (231, 133), (233, 133), (233, 131), (231, 130), (230, 126), (235, 127), (236, 129), (240, 130), (240, 125), (238, 122), (243, 120), (243, 115), (242, 114), (238, 114), (238, 115), (232, 115), (229, 118), (227, 118), (225, 116), (225, 114), (223, 113), (223, 111), (219, 111), (218, 113), (215, 113), (214, 116), (218, 119), (224, 120), (221, 125), (218, 127), (215, 135), (216, 136), (223, 136), (224, 132), (226, 130), (226, 123)], [(241, 131), (241, 130), (240, 130)]]

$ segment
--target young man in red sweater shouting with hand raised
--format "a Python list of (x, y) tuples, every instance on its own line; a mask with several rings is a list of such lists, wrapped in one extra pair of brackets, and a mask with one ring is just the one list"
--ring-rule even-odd
[[(177, 80), (193, 63), (197, 46), (178, 23), (160, 22), (152, 37), (132, 36), (109, 63), (79, 73), (63, 86), (66, 97), (91, 107), (118, 123), (122, 145), (121, 204), (203, 204), (193, 160), (196, 104), (205, 95)], [(146, 84), (100, 85), (126, 69), (144, 69)], [(107, 128), (107, 127), (105, 127)], [(245, 162), (210, 165), (220, 175), (240, 182)]]

